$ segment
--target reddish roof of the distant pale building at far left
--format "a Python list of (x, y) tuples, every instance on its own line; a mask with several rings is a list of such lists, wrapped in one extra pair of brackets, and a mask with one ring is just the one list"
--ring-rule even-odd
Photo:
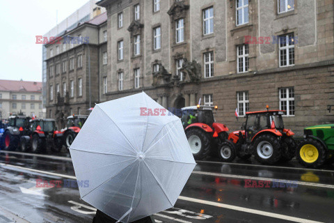
[(0, 91), (42, 92), (42, 82), (24, 82), (0, 79)]

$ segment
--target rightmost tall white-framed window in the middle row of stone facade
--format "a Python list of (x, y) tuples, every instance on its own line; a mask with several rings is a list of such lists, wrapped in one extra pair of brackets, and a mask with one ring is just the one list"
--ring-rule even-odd
[(280, 67), (294, 66), (294, 34), (279, 37)]

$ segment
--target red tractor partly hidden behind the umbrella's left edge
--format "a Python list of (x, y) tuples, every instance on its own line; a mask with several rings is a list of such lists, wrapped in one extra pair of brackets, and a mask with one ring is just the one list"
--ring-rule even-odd
[(82, 125), (86, 122), (86, 115), (72, 115), (67, 117), (67, 125), (63, 133), (63, 144), (67, 149), (70, 148), (77, 134), (80, 132)]

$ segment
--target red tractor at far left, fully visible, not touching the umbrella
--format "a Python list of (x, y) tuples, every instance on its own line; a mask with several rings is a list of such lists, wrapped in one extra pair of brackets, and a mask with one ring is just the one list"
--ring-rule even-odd
[(41, 153), (50, 146), (51, 151), (60, 152), (63, 147), (63, 134), (56, 131), (54, 119), (37, 118), (31, 120), (30, 134), (21, 137), (20, 151)]

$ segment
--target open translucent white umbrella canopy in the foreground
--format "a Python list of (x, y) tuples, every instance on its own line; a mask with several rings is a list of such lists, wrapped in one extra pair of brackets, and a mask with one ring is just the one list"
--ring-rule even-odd
[(180, 118), (145, 93), (96, 105), (70, 153), (81, 199), (120, 222), (173, 207), (196, 166)]

